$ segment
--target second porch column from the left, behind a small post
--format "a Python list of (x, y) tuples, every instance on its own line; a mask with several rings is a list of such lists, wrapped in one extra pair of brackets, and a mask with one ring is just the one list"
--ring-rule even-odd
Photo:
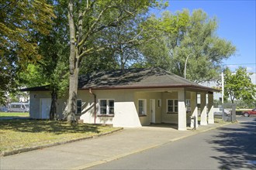
[[(196, 92), (190, 93), (190, 106), (191, 106), (191, 116), (195, 119), (192, 119), (190, 122), (190, 128), (198, 128), (198, 108), (197, 108), (197, 95)], [(195, 124), (195, 127), (194, 127)]]

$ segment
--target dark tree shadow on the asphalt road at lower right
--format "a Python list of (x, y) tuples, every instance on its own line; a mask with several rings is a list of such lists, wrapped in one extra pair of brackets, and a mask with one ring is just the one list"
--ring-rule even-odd
[(227, 156), (212, 157), (221, 164), (221, 169), (256, 168), (256, 118), (232, 128), (219, 128), (222, 133), (208, 141), (218, 145), (214, 150)]

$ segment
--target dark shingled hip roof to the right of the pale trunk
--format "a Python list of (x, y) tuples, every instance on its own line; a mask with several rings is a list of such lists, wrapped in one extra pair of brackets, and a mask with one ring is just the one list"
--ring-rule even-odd
[(204, 87), (161, 68), (135, 68), (92, 73), (80, 76), (78, 89), (142, 89), (190, 87), (199, 90), (218, 91)]

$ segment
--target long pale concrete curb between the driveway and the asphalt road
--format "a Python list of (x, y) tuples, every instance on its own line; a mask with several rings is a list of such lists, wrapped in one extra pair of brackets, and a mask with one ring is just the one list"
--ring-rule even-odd
[(185, 136), (182, 136), (182, 137), (179, 137), (179, 138), (174, 138), (174, 139), (171, 139), (170, 141), (163, 142), (163, 143), (158, 144), (158, 145), (151, 145), (151, 146), (146, 147), (146, 148), (140, 148), (140, 149), (137, 149), (135, 151), (130, 151), (130, 152), (127, 152), (127, 153), (124, 153), (124, 154), (121, 154), (121, 155), (112, 156), (111, 158), (102, 159), (102, 160), (97, 161), (97, 162), (91, 162), (91, 163), (88, 163), (88, 164), (85, 164), (85, 165), (81, 165), (81, 166), (78, 166), (78, 167), (75, 167), (75, 168), (71, 168), (71, 170), (81, 170), (81, 169), (85, 169), (85, 168), (91, 168), (93, 166), (101, 165), (101, 164), (106, 163), (106, 162), (111, 162), (111, 161), (114, 161), (116, 159), (126, 157), (128, 155), (133, 155), (133, 154), (136, 154), (136, 153), (139, 153), (139, 152), (142, 152), (142, 151), (147, 151), (151, 148), (157, 148), (157, 147), (160, 147), (162, 145), (166, 145), (168, 143), (171, 143), (173, 141), (178, 141), (178, 140), (181, 140), (183, 138), (188, 138), (188, 137), (190, 137), (192, 135), (195, 135), (195, 134), (200, 134), (200, 133), (203, 133), (203, 132), (206, 132), (206, 131), (211, 131), (213, 129), (220, 128), (220, 127), (223, 127), (223, 126), (231, 124), (231, 123), (232, 122), (227, 123), (227, 124), (220, 124), (219, 126), (209, 128), (209, 129), (206, 129), (206, 130), (203, 130), (203, 131), (195, 131), (194, 134), (187, 134)]

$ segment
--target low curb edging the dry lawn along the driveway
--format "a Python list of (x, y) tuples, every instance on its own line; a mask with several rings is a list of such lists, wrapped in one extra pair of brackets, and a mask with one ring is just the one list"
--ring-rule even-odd
[(0, 153), (0, 157), (9, 156), (9, 155), (16, 155), (16, 154), (20, 154), (20, 153), (26, 152), (26, 151), (33, 151), (33, 150), (42, 149), (42, 148), (49, 148), (49, 147), (57, 146), (57, 145), (68, 144), (68, 143), (71, 143), (71, 142), (74, 142), (74, 141), (82, 141), (82, 140), (91, 139), (91, 138), (99, 138), (101, 136), (104, 136), (104, 135), (107, 135), (107, 134), (112, 134), (116, 131), (122, 131), (122, 130), (123, 130), (123, 128), (118, 128), (118, 129), (113, 130), (113, 131), (105, 132), (105, 133), (102, 133), (102, 134), (96, 134), (96, 135), (88, 136), (88, 137), (85, 137), (85, 138), (77, 138), (77, 139), (72, 139), (72, 140), (69, 140), (69, 141), (59, 141), (59, 142), (55, 142), (53, 144), (40, 145), (40, 146), (29, 147), (29, 148), (21, 148), (21, 149), (16, 149), (14, 151), (4, 151), (4, 152)]

